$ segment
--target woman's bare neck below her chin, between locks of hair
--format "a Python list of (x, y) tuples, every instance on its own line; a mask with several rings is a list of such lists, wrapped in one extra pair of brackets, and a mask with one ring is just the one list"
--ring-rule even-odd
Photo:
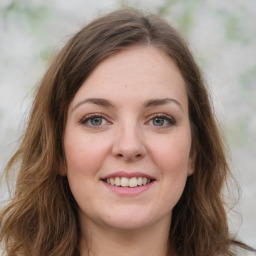
[(169, 250), (169, 229), (166, 222), (133, 231), (99, 227), (91, 223), (86, 227), (86, 234), (82, 235), (80, 255), (174, 256)]

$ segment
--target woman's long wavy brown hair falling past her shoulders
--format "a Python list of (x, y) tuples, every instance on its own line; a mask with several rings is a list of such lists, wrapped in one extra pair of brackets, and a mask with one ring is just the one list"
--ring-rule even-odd
[(233, 255), (222, 188), (230, 174), (201, 72), (182, 37), (165, 21), (136, 10), (105, 15), (75, 34), (53, 60), (36, 93), (22, 143), (16, 189), (1, 211), (0, 240), (7, 255), (79, 255), (77, 205), (69, 190), (63, 134), (68, 106), (93, 69), (132, 45), (163, 50), (185, 82), (195, 172), (173, 209), (170, 244), (178, 255)]

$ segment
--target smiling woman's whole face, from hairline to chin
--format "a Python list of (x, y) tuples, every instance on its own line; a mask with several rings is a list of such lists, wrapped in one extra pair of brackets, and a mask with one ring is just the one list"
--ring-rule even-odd
[(193, 172), (185, 82), (170, 57), (130, 47), (76, 93), (64, 136), (67, 178), (84, 226), (170, 225)]

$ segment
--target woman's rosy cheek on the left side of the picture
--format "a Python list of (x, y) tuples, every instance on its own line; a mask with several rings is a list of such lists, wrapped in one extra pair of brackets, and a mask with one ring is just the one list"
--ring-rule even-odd
[(95, 184), (106, 150), (98, 139), (79, 132), (65, 134), (64, 149), (70, 190), (79, 207), (86, 211), (92, 203), (91, 194), (96, 193)]

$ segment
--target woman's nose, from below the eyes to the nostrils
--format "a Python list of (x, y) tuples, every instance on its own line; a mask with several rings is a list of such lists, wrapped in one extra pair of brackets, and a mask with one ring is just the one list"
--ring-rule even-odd
[(146, 155), (146, 147), (140, 129), (136, 125), (127, 125), (119, 130), (112, 149), (114, 157), (125, 161), (142, 159)]

